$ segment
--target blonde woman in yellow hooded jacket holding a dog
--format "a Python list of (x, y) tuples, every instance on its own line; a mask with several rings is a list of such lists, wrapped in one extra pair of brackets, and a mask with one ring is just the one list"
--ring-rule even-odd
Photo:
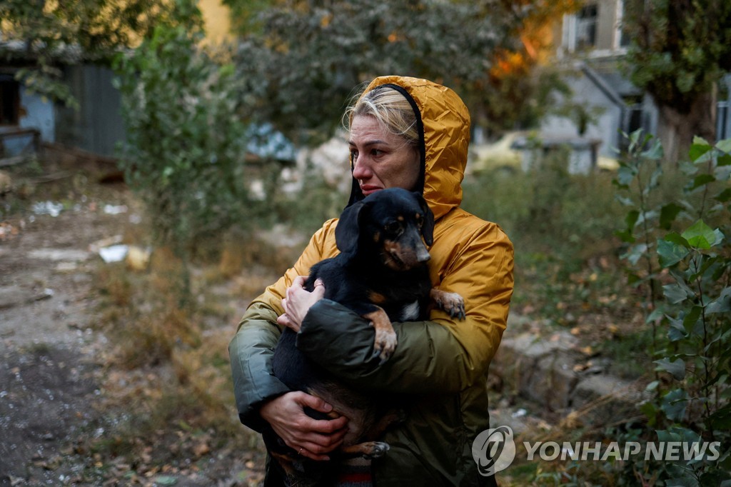
[[(349, 204), (371, 192), (402, 187), (421, 192), (436, 219), (429, 271), (434, 287), (465, 299), (466, 320), (434, 309), (430, 320), (395, 325), (398, 347), (379, 365), (373, 329), (362, 317), (322, 299), (322, 286), (303, 290), (319, 260), (337, 254), (337, 220), (325, 222), (295, 266), (255, 299), (229, 350), (242, 423), (268, 423), (301, 455), (327, 458), (346, 418), (314, 420), (322, 400), (291, 392), (272, 374), (279, 325), (299, 332), (298, 347), (341, 379), (361, 388), (412, 395), (406, 420), (383, 437), (391, 449), (374, 460), (379, 486), (488, 483), (471, 445), (489, 428), (488, 366), (506, 326), (512, 295), (512, 243), (498, 225), (459, 208), (469, 144), (469, 113), (449, 88), (428, 80), (376, 78), (346, 113), (353, 175)], [(491, 480), (491, 479), (490, 479)]]

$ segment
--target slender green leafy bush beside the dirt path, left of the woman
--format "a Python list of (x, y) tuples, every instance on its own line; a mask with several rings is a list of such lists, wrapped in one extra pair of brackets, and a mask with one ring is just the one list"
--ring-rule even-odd
[(156, 241), (179, 253), (245, 224), (253, 203), (235, 69), (198, 44), (194, 4), (176, 8), (186, 20), (156, 26), (139, 48), (118, 56), (115, 72), (127, 133), (121, 168), (147, 207)]

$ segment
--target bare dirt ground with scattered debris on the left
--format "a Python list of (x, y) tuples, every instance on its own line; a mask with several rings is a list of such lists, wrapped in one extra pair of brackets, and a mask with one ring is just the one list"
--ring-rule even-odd
[[(108, 384), (128, 374), (109, 365), (109, 340), (94, 326), (102, 319), (97, 246), (118, 240), (139, 216), (121, 183), (96, 185), (64, 167), (27, 178), (7, 173), (15, 187), (0, 199), (0, 486), (257, 485), (256, 450), (206, 446), (194, 458), (181, 453), (167, 468), (140, 472), (127, 457), (88, 449), (124, 419)], [(59, 194), (56, 178), (84, 189)], [(96, 187), (86, 191), (90, 184)], [(156, 448), (182, 451), (180, 440), (161, 434)]]

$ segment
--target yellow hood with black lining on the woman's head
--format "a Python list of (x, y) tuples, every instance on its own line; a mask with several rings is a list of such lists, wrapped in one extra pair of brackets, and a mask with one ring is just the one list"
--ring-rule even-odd
[[(422, 140), (423, 196), (434, 218), (439, 219), (462, 202), (469, 110), (450, 88), (419, 78), (382, 76), (373, 80), (363, 94), (382, 85), (401, 91), (414, 107)], [(362, 199), (363, 192), (354, 178), (349, 204)]]

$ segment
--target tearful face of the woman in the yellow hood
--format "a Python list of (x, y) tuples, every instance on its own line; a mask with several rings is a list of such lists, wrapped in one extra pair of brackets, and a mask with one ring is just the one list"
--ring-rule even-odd
[(382, 127), (372, 116), (355, 116), (350, 124), (353, 177), (363, 195), (379, 189), (416, 189), (420, 173), (419, 151)]

